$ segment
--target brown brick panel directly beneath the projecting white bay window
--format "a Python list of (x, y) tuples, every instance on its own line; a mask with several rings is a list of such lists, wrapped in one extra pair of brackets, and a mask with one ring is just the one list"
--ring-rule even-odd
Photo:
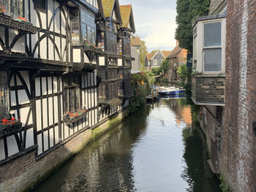
[(192, 99), (197, 104), (224, 104), (225, 77), (192, 77)]

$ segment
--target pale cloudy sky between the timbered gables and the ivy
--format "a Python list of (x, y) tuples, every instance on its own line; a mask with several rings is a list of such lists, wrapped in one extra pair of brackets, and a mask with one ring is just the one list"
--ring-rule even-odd
[(136, 33), (151, 50), (173, 50), (176, 46), (176, 0), (119, 0), (132, 4)]

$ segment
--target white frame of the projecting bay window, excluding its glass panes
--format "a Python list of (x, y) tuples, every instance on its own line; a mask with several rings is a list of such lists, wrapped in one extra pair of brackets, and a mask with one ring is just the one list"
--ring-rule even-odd
[[(222, 49), (222, 67), (221, 71), (212, 71), (212, 72), (206, 72), (204, 70), (204, 50), (206, 50), (208, 47), (204, 47), (204, 24), (205, 23), (221, 23), (221, 49)], [(213, 20), (202, 20), (198, 21), (197, 25), (197, 33), (194, 34), (194, 42), (193, 42), (193, 49), (197, 47), (196, 50), (193, 50), (193, 66), (196, 67), (197, 72), (202, 72), (203, 74), (225, 74), (225, 44), (226, 44), (226, 18), (218, 18)], [(196, 38), (195, 38), (196, 37)], [(214, 47), (209, 47), (214, 48)], [(217, 48), (217, 47), (215, 47)], [(218, 47), (220, 48), (220, 47)]]

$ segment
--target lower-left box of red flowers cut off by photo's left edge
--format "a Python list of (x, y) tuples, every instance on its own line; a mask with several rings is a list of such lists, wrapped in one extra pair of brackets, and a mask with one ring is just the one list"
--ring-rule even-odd
[(22, 128), (22, 123), (20, 120), (7, 120), (3, 119), (0, 123), (0, 137), (10, 134), (15, 134)]

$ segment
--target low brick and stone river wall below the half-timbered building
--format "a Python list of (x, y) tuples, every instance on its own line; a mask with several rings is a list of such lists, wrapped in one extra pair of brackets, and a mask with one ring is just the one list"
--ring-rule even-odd
[(36, 158), (36, 150), (31, 150), (30, 153), (2, 165), (0, 172), (6, 174), (1, 174), (0, 191), (29, 191), (83, 147), (86, 147), (91, 140), (113, 128), (125, 117), (127, 117), (127, 110), (120, 110), (91, 128), (83, 128), (72, 138), (61, 142), (55, 150), (39, 159)]

